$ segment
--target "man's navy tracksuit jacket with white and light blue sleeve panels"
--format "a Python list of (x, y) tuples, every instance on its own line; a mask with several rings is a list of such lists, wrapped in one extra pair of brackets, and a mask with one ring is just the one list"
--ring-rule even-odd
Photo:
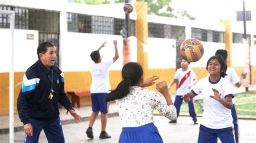
[[(52, 99), (49, 98), (51, 87), (55, 90)], [(63, 73), (57, 66), (48, 69), (38, 60), (23, 76), (17, 101), (19, 118), (24, 125), (29, 123), (29, 118), (38, 120), (56, 118), (59, 116), (58, 102), (67, 110), (72, 108), (64, 92)]]

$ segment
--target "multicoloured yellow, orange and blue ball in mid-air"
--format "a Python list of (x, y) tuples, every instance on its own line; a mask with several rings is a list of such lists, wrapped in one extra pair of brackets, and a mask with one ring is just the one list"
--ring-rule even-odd
[(198, 39), (187, 39), (180, 45), (179, 53), (188, 62), (196, 62), (204, 54), (204, 47)]

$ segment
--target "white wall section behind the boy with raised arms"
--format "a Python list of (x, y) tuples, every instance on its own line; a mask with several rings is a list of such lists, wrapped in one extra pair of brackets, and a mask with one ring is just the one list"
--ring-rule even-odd
[[(137, 39), (131, 38), (131, 59), (137, 61)], [(100, 50), (103, 60), (114, 57), (113, 40), (117, 40), (119, 59), (113, 63), (110, 70), (121, 70), (123, 67), (123, 38), (120, 35), (87, 34), (67, 32), (62, 34), (62, 71), (89, 71), (92, 51), (95, 51), (107, 41), (107, 45)]]

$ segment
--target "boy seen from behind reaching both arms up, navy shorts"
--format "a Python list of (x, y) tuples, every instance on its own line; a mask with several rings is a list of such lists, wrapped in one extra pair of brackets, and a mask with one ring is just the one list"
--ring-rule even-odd
[(95, 122), (98, 113), (101, 113), (102, 121), (102, 132), (99, 135), (101, 139), (111, 138), (109, 134), (106, 133), (106, 122), (107, 122), (107, 103), (105, 98), (108, 92), (110, 92), (110, 82), (109, 82), (109, 67), (118, 58), (117, 41), (114, 40), (114, 57), (109, 61), (102, 62), (102, 58), (99, 54), (101, 48), (105, 47), (106, 42), (104, 42), (97, 51), (93, 51), (90, 56), (92, 61), (91, 66), (91, 102), (92, 102), (92, 114), (90, 116), (89, 127), (86, 130), (88, 138), (93, 138), (92, 126)]

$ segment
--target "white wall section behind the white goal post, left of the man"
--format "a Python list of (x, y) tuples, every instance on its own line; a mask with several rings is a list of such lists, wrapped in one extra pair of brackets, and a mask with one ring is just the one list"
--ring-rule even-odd
[[(26, 71), (37, 61), (38, 31), (14, 31), (14, 71)], [(26, 34), (33, 34), (34, 39), (26, 39)], [(11, 33), (9, 29), (0, 28), (0, 73), (10, 70)]]

